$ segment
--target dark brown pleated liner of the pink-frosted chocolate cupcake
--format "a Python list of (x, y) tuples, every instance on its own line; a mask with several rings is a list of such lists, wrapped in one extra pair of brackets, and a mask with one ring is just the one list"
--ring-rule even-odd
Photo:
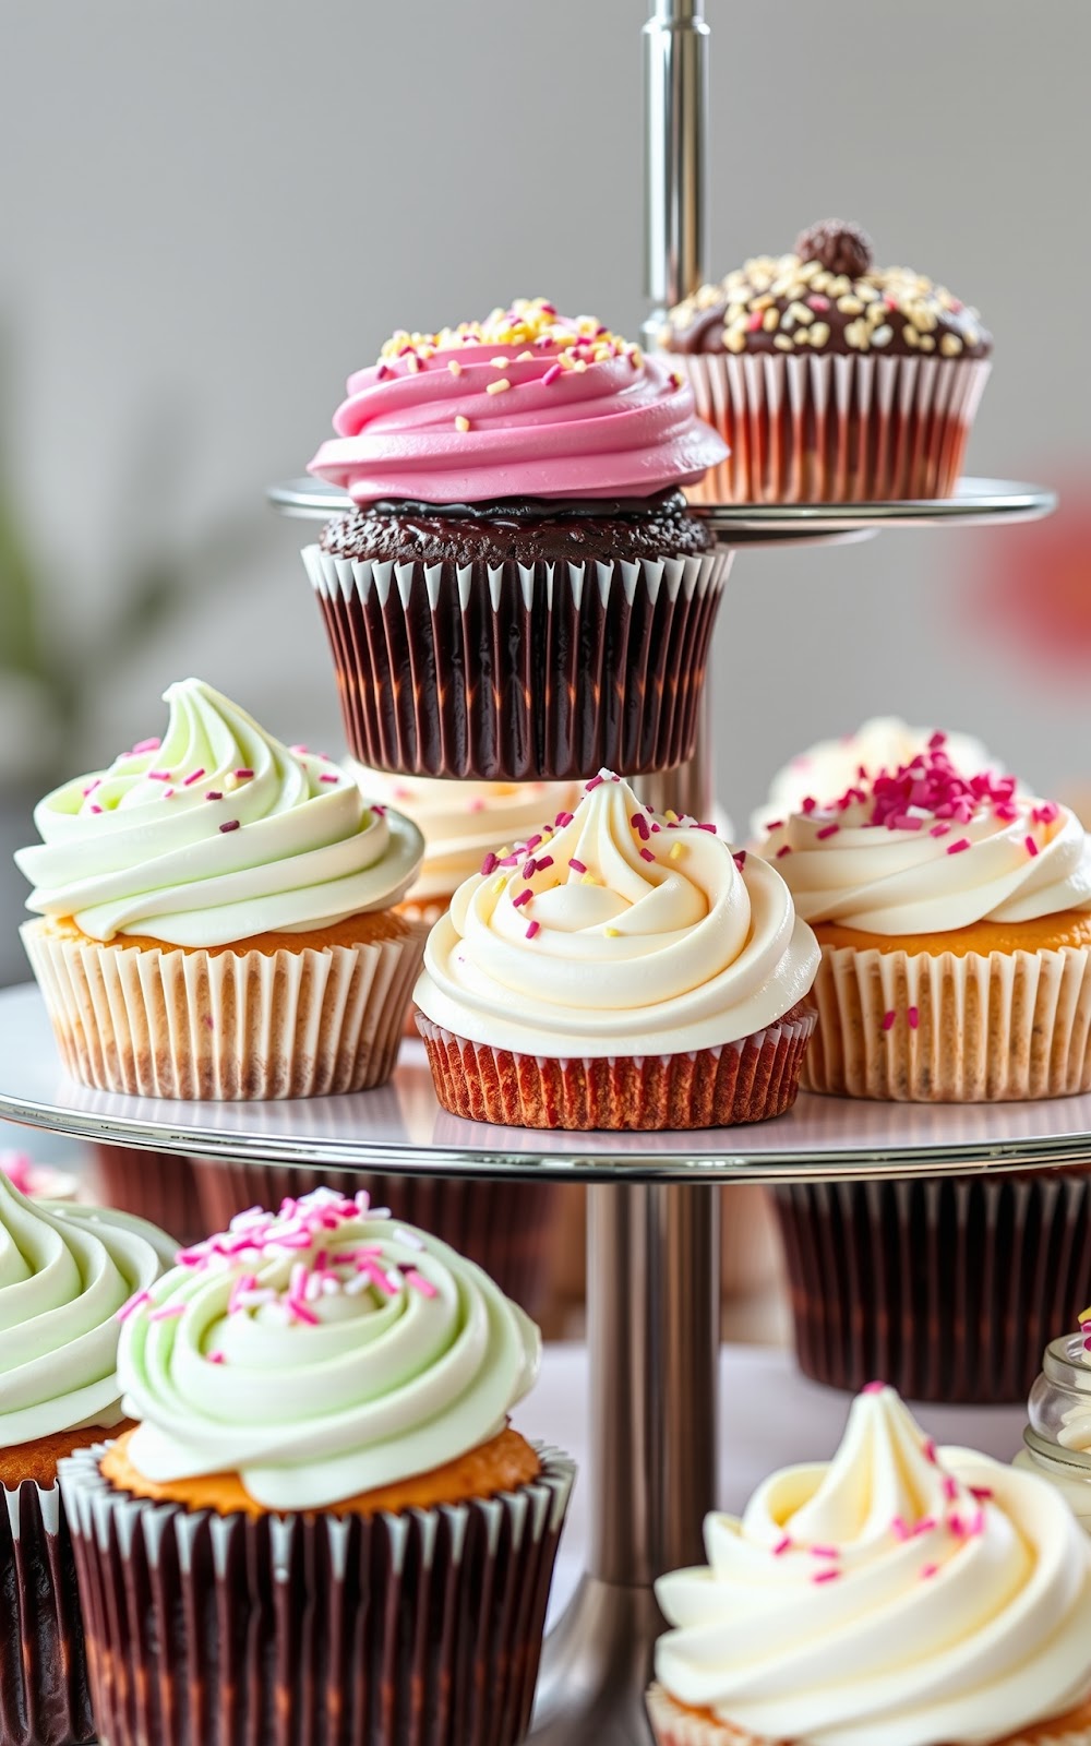
[(307, 546), (354, 758), (482, 780), (693, 754), (730, 553), (393, 564)]

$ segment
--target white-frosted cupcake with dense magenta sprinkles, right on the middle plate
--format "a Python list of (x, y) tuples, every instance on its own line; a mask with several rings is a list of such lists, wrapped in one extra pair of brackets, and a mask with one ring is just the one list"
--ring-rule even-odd
[(1004, 1102), (1091, 1090), (1091, 849), (1074, 814), (969, 775), (943, 733), (770, 829), (822, 946), (813, 1091)]

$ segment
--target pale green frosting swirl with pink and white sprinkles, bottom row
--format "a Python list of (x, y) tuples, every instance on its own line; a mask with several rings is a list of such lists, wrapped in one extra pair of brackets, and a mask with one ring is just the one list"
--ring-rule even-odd
[(538, 1374), (529, 1316), (363, 1193), (251, 1208), (180, 1262), (119, 1353), (154, 1482), (230, 1472), (264, 1509), (321, 1509), (489, 1442)]

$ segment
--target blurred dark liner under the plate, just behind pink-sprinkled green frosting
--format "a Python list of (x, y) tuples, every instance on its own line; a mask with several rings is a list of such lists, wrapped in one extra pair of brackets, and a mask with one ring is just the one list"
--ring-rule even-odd
[(305, 1170), (295, 1165), (201, 1159), (196, 1166), (202, 1229), (225, 1231), (248, 1206), (279, 1206), (328, 1187), (349, 1200), (367, 1189), (374, 1206), (431, 1231), (477, 1261), (529, 1315), (550, 1285), (550, 1259), (560, 1189), (553, 1182), (480, 1182), (470, 1177), (386, 1177), (358, 1170)]

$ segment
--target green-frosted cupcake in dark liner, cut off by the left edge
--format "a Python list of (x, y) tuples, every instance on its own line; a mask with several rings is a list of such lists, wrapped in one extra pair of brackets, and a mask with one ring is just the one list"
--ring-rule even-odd
[(122, 1423), (117, 1311), (169, 1238), (0, 1175), (0, 1746), (96, 1736), (58, 1461)]

